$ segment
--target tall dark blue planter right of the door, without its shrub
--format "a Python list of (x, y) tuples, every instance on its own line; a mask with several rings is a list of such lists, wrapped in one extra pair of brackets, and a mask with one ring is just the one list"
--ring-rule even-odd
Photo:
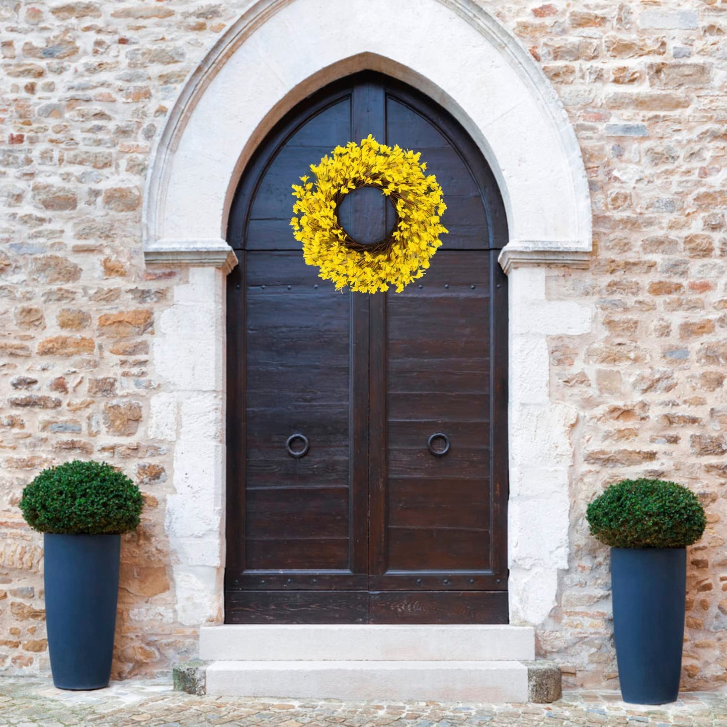
[(611, 548), (614, 639), (624, 702), (679, 696), (686, 548)]

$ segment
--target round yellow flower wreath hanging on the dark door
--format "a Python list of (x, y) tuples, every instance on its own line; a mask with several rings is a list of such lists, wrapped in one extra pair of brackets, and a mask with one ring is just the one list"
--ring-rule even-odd
[[(427, 165), (419, 153), (391, 148), (369, 137), (361, 145), (348, 142), (337, 146), (332, 156), (311, 164), (315, 182), (300, 177), (293, 185), (293, 217), (290, 221), (297, 241), (303, 244), (308, 265), (317, 265), (324, 280), (332, 280), (337, 290), (348, 286), (361, 293), (386, 291), (421, 278), (430, 258), (441, 246), (446, 233), (441, 215), (446, 209), (442, 188), (434, 174), (425, 175)], [(372, 245), (348, 236), (337, 217), (343, 198), (361, 187), (382, 190), (395, 204), (399, 217), (395, 230)]]

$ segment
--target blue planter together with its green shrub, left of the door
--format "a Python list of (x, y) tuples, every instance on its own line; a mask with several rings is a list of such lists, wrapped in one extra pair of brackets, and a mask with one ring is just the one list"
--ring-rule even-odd
[(48, 651), (60, 689), (108, 686), (121, 534), (140, 523), (142, 494), (105, 462), (65, 462), (23, 489), (20, 510), (44, 534)]

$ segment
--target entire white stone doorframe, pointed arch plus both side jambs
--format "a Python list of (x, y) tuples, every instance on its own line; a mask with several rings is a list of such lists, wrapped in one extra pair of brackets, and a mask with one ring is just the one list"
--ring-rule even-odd
[(473, 0), (252, 2), (169, 113), (150, 164), (143, 235), (148, 265), (188, 271), (158, 321), (153, 361), (164, 393), (152, 398), (149, 424), (151, 438), (174, 448), (166, 531), (177, 616), (189, 625), (224, 620), (231, 198), (254, 148), (286, 111), (362, 70), (401, 79), (443, 105), (480, 146), (505, 200), (510, 623), (537, 626), (555, 606), (558, 571), (568, 568), (574, 457), (574, 412), (550, 401), (547, 337), (590, 328), (585, 308), (546, 301), (545, 269), (588, 265), (590, 194), (555, 91), (520, 42)]

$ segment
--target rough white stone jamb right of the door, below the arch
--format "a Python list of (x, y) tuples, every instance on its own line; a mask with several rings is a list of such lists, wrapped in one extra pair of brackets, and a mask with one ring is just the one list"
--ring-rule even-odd
[(542, 266), (513, 265), (510, 295), (510, 499), (507, 553), (510, 623), (542, 623), (568, 568), (569, 430), (577, 414), (552, 403), (547, 339), (590, 330), (590, 308), (548, 301)]

